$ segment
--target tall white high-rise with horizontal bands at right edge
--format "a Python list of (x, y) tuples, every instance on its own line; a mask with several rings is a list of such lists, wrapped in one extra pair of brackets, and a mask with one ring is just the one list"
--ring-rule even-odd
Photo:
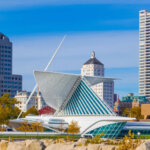
[(139, 95), (150, 99), (150, 11), (139, 12)]

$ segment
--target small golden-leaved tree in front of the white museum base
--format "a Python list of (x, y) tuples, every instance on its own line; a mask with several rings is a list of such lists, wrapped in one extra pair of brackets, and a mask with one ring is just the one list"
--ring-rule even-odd
[(72, 120), (71, 123), (68, 126), (67, 132), (71, 133), (71, 134), (79, 133), (80, 132), (80, 127), (78, 126), (78, 122)]

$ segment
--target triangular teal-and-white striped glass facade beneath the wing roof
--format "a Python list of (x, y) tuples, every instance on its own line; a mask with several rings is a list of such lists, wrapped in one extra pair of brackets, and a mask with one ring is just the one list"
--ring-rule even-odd
[(115, 115), (108, 105), (81, 80), (62, 115)]

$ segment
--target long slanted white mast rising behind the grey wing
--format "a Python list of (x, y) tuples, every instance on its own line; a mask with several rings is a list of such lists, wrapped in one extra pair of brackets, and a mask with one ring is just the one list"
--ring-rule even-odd
[[(49, 66), (50, 66), (51, 63), (53, 62), (53, 60), (54, 60), (54, 58), (55, 58), (55, 56), (56, 56), (58, 50), (60, 49), (61, 45), (63, 44), (65, 38), (66, 38), (66, 35), (64, 35), (64, 37), (62, 38), (62, 40), (61, 40), (61, 42), (59, 43), (58, 47), (56, 48), (56, 50), (55, 50), (55, 52), (54, 52), (52, 58), (51, 58), (50, 61), (48, 62), (47, 66), (45, 67), (44, 72), (46, 72), (46, 71), (48, 70)], [(30, 96), (28, 97), (28, 99), (27, 99), (27, 101), (26, 101), (26, 106), (27, 106), (28, 102), (30, 101), (31, 97), (33, 96), (33, 94), (34, 94), (35, 90), (37, 89), (37, 87), (38, 87), (38, 85), (36, 84), (36, 85), (34, 86), (32, 92), (31, 92)], [(23, 113), (23, 110), (21, 110), (21, 112), (20, 112), (20, 114), (18, 115), (17, 119), (20, 118), (20, 116), (22, 115), (22, 113)]]

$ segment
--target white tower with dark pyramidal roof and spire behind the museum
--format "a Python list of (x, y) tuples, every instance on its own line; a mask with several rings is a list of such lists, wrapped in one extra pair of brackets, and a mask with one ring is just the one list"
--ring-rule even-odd
[[(91, 58), (85, 62), (81, 68), (82, 76), (100, 76), (104, 79), (104, 65), (96, 59), (95, 52), (92, 52)], [(92, 86), (93, 91), (109, 106), (114, 107), (114, 80), (105, 78), (100, 83)]]

